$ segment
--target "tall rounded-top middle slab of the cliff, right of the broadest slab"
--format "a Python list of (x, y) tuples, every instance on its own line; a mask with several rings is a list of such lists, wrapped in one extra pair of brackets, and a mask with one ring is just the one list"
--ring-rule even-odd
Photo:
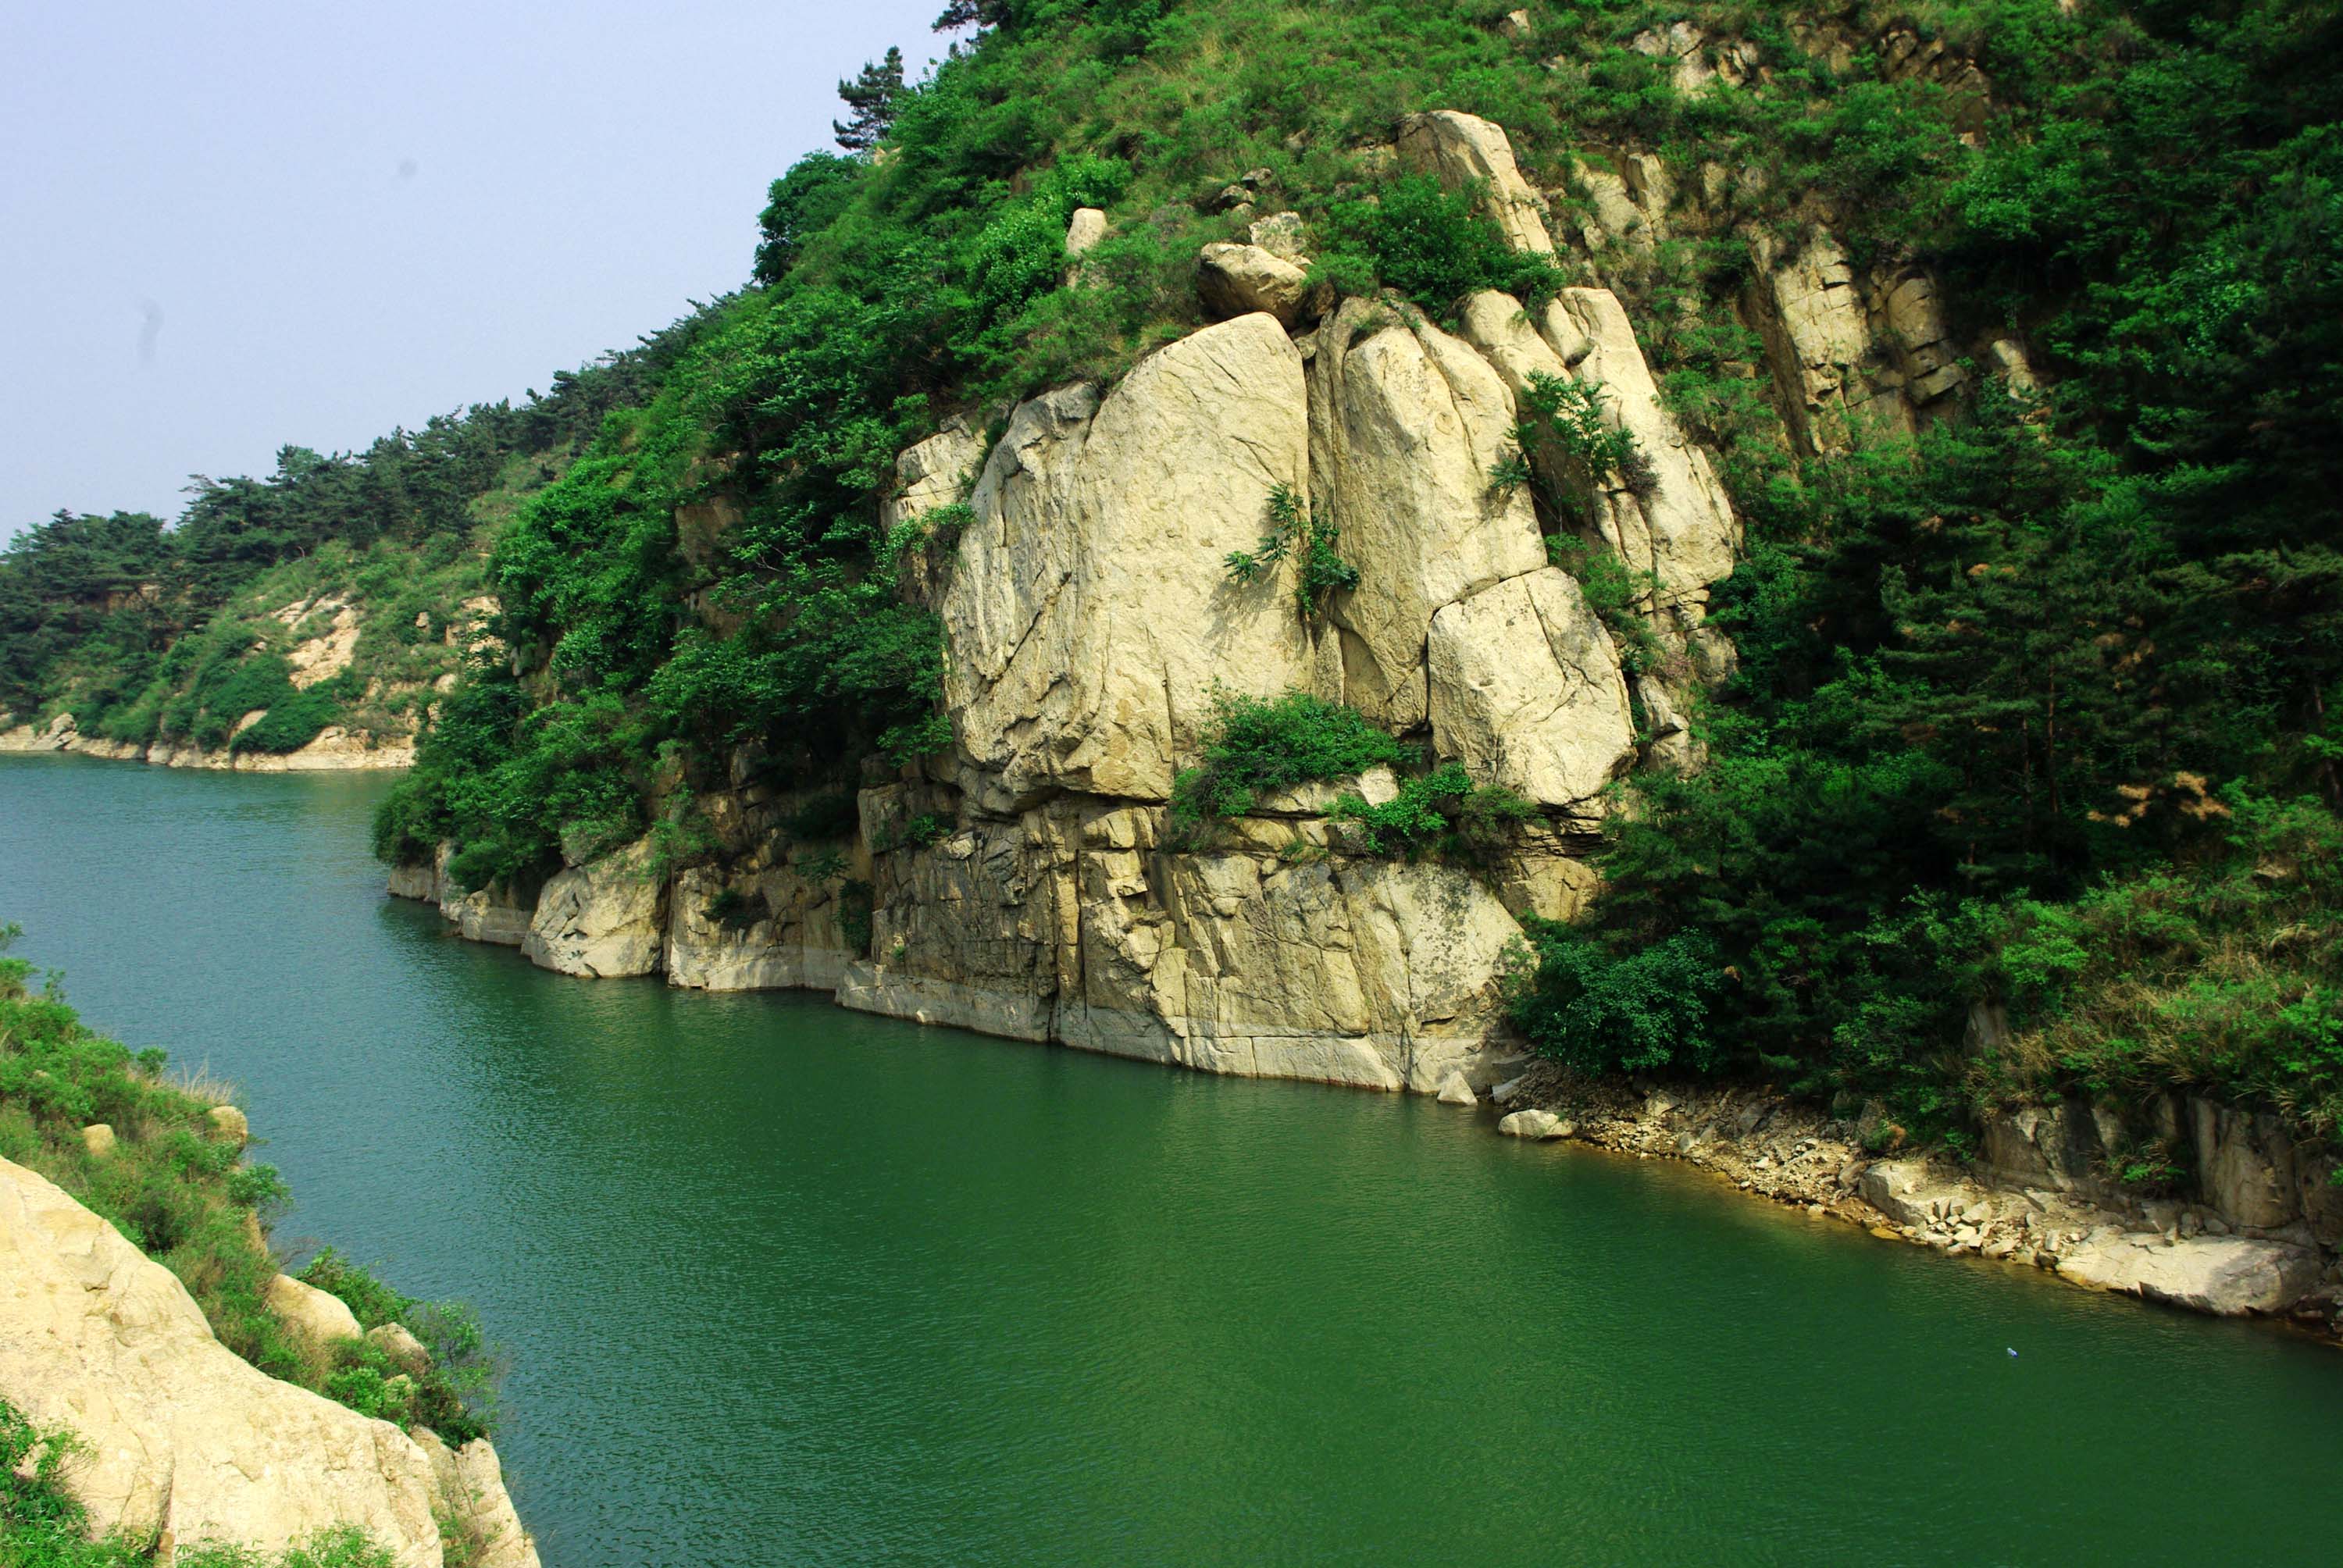
[[(1523, 490), (1497, 495), (1514, 398), (1471, 347), (1429, 321), (1378, 326), (1347, 300), (1310, 361), (1310, 473), (1359, 586), (1336, 598), (1343, 701), (1385, 729), (1429, 717), (1432, 616), (1546, 565)], [(1387, 319), (1387, 316), (1382, 316)]]

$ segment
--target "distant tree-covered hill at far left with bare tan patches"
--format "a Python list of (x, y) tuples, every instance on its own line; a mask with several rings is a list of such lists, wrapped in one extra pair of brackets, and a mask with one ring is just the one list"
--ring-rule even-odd
[(637, 403), (675, 333), (558, 370), (363, 452), (284, 448), (267, 478), (190, 478), (173, 523), (59, 511), (0, 553), (0, 731), (73, 717), (105, 755), (286, 755), (340, 727), (410, 741), (487, 607), (513, 509)]

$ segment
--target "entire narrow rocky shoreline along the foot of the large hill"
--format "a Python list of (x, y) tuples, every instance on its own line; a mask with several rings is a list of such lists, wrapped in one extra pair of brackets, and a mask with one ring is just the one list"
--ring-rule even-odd
[[(534, 898), (513, 888), (459, 895), (448, 884), (445, 853), (436, 865), (394, 867), (389, 877), (394, 895), (436, 905), (455, 935), (518, 947), (539, 968), (565, 975), (663, 973), (668, 984), (701, 989), (813, 989), (841, 1008), (1195, 1071), (1439, 1095), (1492, 1111), (1495, 1130), (1511, 1137), (1682, 1160), (1755, 1198), (1842, 1219), (1884, 1240), (2343, 1338), (2336, 1158), (2298, 1148), (2270, 1113), (2172, 1097), (2134, 1113), (2144, 1125), (2132, 1127), (2099, 1106), (2022, 1106), (1994, 1113), (1977, 1160), (1961, 1165), (1907, 1151), (1903, 1130), (1879, 1106), (1832, 1116), (1748, 1085), (1584, 1080), (1537, 1062), (1485, 1017), (1474, 1036), (1457, 1041), (1464, 1050), (1418, 1052), (1427, 1071), (1375, 1076), (1366, 1071), (1378, 1059), (1368, 1055), (1375, 1041), (1326, 1041), (1305, 1027), (1162, 1048), (1136, 1027), (1066, 1029), (1050, 996), (1033, 991), (928, 982), (909, 1005), (904, 982), (895, 980), (893, 998), (874, 998), (886, 963), (841, 952), (834, 935), (808, 942), (804, 928), (787, 930), (780, 921), (726, 930), (703, 912), (719, 886), (719, 874), (698, 870), (661, 884), (640, 858), (619, 855), (562, 872)], [(1413, 1048), (1413, 1041), (1380, 1045)], [(1434, 1076), (1434, 1066), (1443, 1071)], [(1490, 1076), (1504, 1080), (1490, 1088)], [(2109, 1174), (2123, 1151), (2149, 1137), (2191, 1148), (2193, 1195), (2142, 1195)]]

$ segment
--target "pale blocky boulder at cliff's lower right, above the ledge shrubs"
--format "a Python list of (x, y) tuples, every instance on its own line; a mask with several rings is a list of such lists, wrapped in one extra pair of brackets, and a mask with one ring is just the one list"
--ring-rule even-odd
[(1483, 783), (1584, 806), (1635, 759), (1610, 633), (1560, 567), (1432, 616), (1432, 741)]

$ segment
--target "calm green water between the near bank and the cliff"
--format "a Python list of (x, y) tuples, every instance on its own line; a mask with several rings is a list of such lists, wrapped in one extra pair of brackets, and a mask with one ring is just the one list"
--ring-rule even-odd
[(382, 895), (380, 790), (0, 757), (0, 919), (244, 1085), (279, 1240), (480, 1308), (548, 1568), (2343, 1556), (2331, 1350), (1422, 1099), (558, 980)]

